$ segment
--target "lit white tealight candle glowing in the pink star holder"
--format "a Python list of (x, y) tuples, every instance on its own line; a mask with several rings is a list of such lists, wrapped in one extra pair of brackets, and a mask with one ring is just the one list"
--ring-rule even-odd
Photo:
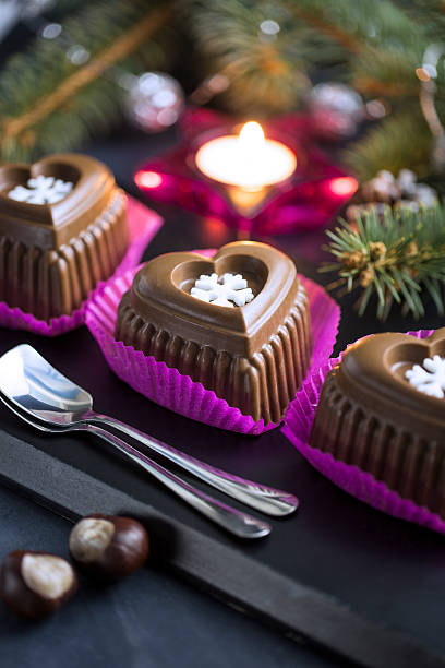
[(206, 142), (196, 152), (195, 160), (211, 179), (253, 191), (286, 180), (297, 167), (293, 151), (265, 139), (263, 128), (254, 121), (245, 123), (239, 135)]

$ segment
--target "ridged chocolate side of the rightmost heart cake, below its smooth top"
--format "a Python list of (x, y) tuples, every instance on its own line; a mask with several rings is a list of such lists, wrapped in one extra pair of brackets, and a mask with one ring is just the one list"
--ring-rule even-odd
[(445, 518), (445, 444), (428, 440), (373, 413), (347, 396), (337, 382), (338, 368), (324, 382), (310, 444), (336, 460), (369, 472), (404, 499)]

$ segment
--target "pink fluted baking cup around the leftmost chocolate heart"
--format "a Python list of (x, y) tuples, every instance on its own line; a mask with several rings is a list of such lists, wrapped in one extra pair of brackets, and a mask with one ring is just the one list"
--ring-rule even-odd
[[(163, 219), (157, 213), (130, 196), (128, 198), (127, 220), (130, 244), (113, 276), (119, 276), (137, 264), (148, 241), (153, 239), (163, 225)], [(89, 293), (88, 298), (71, 315), (51, 318), (49, 322), (38, 320), (32, 313), (25, 313), (19, 308), (12, 308), (4, 301), (0, 301), (0, 326), (11, 330), (28, 330), (43, 336), (58, 336), (70, 330), (75, 330), (85, 322), (86, 303), (103, 283), (97, 284), (95, 289)]]

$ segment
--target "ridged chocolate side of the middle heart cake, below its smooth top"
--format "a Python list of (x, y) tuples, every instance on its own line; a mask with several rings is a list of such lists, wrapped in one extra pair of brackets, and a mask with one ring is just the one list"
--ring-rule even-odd
[(312, 337), (305, 289), (268, 344), (251, 358), (185, 341), (157, 330), (137, 315), (127, 293), (119, 306), (117, 341), (153, 355), (207, 390), (240, 408), (254, 420), (278, 422), (302, 383), (311, 363)]

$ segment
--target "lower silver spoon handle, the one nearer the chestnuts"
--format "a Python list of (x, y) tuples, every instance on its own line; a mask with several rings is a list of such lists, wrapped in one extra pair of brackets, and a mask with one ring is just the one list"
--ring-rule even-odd
[(96, 425), (86, 425), (85, 430), (107, 441), (107, 443), (119, 450), (123, 455), (145, 468), (146, 472), (152, 474), (154, 478), (168, 487), (183, 501), (187, 501), (187, 503), (200, 511), (203, 515), (239, 538), (262, 538), (270, 533), (272, 528), (265, 522), (208, 497), (139, 452), (113, 433), (109, 433)]

